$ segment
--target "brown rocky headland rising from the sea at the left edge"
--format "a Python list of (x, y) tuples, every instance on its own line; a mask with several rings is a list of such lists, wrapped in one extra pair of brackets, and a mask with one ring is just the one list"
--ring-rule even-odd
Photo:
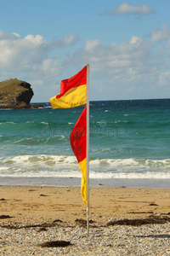
[(0, 83), (0, 108), (30, 108), (34, 95), (31, 84), (18, 79)]

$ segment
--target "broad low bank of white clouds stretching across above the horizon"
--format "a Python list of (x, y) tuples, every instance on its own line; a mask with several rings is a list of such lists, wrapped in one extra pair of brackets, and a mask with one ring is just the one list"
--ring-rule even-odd
[[(109, 96), (115, 98), (113, 95), (117, 98), (122, 95), (132, 98), (133, 94), (141, 98), (141, 91), (148, 95), (146, 91), (153, 88), (154, 91), (156, 88), (166, 90), (165, 85), (170, 79), (167, 60), (170, 31), (166, 24), (159, 30), (150, 32), (147, 40), (133, 35), (128, 42), (104, 45), (99, 38), (94, 38), (86, 40), (84, 48), (77, 49), (72, 55), (67, 55), (65, 49), (59, 49), (59, 42), (66, 46), (74, 44), (77, 38), (76, 34), (71, 34), (50, 43), (41, 35), (20, 38), (19, 34), (0, 31), (1, 81), (10, 78), (24, 79), (32, 84), (34, 98), (39, 97), (39, 101), (45, 101), (45, 98), (56, 94), (54, 84), (67, 78), (69, 74), (66, 70), (73, 75), (75, 70), (78, 71), (89, 63), (90, 77), (98, 84), (95, 100), (99, 98), (99, 93), (103, 99)], [(165, 41), (165, 44), (160, 44), (160, 41)], [(91, 84), (91, 90), (96, 84)], [(112, 95), (105, 91), (106, 85)]]

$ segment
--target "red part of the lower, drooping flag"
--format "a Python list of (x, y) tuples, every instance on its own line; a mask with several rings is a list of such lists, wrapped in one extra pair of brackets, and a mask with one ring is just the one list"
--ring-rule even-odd
[(86, 116), (87, 108), (85, 107), (77, 119), (77, 123), (71, 131), (71, 148), (77, 157), (78, 162), (81, 162), (86, 158)]

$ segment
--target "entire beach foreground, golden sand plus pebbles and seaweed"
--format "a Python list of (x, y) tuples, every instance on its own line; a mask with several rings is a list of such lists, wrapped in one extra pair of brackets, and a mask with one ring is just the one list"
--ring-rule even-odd
[[(82, 236), (80, 188), (1, 186), (2, 255), (170, 255), (169, 196), (170, 189), (92, 188), (90, 235)], [(41, 247), (45, 241), (71, 245)]]

